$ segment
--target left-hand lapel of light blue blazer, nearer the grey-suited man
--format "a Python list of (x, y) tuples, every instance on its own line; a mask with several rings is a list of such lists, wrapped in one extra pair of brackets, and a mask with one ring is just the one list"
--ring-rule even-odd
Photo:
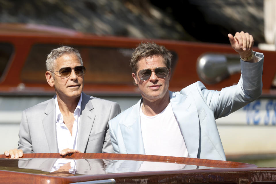
[(145, 154), (141, 121), (140, 121), (141, 100), (133, 106), (129, 115), (120, 124), (122, 137), (128, 154)]

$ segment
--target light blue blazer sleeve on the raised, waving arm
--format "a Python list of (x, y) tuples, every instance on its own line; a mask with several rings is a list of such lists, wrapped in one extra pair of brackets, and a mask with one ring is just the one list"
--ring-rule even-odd
[(241, 62), (241, 78), (237, 85), (223, 88), (221, 91), (207, 90), (202, 84), (201, 94), (206, 104), (221, 118), (254, 101), (262, 94), (262, 70), (264, 55), (254, 52), (260, 60), (256, 63)]

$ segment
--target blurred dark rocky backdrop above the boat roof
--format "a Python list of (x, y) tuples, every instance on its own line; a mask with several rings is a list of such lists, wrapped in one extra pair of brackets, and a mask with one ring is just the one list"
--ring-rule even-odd
[(244, 30), (264, 42), (263, 0), (0, 0), (0, 22), (213, 43)]

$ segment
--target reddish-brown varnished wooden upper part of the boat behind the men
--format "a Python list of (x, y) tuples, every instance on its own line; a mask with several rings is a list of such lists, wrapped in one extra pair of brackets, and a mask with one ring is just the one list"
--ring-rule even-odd
[[(2, 64), (0, 93), (6, 95), (54, 94), (53, 89), (45, 81), (46, 55), (53, 48), (68, 45), (77, 48), (83, 57), (84, 66), (87, 68), (84, 88), (86, 93), (139, 94), (133, 85), (129, 60), (133, 49), (141, 41), (149, 40), (97, 36), (49, 26), (0, 24)], [(239, 57), (230, 45), (168, 40), (150, 41), (164, 45), (174, 55), (170, 80), (171, 91), (179, 91), (196, 81), (205, 81), (207, 88), (220, 90), (237, 83), (240, 78), (239, 70), (235, 70), (233, 64), (233, 58), (239, 63)], [(273, 79), (276, 67), (272, 66), (275, 66), (276, 52), (260, 51), (258, 48), (254, 48), (254, 51), (264, 53), (266, 58), (263, 95), (275, 95)], [(200, 67), (200, 60), (203, 58), (208, 62), (208, 57), (211, 58), (210, 64), (205, 68)], [(215, 72), (218, 69), (220, 71)], [(211, 75), (208, 72), (215, 73)]]

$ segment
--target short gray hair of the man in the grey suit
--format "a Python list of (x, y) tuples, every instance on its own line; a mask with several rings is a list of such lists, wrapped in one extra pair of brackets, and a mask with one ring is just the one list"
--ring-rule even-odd
[(62, 46), (62, 47), (53, 49), (51, 53), (47, 55), (47, 60), (46, 60), (47, 71), (55, 70), (55, 64), (56, 64), (55, 60), (65, 54), (75, 54), (80, 60), (81, 65), (83, 66), (83, 60), (81, 59), (81, 54), (77, 49), (74, 49), (68, 46)]

